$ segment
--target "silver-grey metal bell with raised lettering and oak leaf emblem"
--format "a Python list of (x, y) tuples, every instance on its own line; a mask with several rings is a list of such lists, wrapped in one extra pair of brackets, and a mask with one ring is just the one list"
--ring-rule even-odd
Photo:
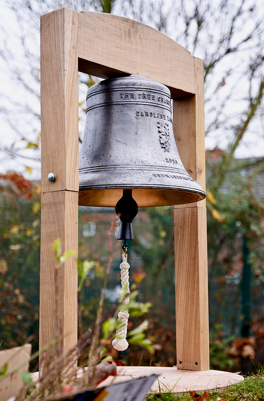
[(205, 198), (179, 157), (166, 86), (138, 75), (107, 79), (87, 91), (86, 105), (80, 205), (115, 207), (123, 188), (139, 207)]

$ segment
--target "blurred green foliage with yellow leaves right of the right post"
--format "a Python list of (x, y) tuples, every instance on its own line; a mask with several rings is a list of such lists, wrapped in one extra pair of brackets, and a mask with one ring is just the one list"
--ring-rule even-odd
[[(251, 309), (254, 316), (264, 314), (257, 296), (264, 289), (264, 167), (258, 160), (231, 159), (229, 162), (221, 185), (217, 187), (219, 158), (208, 158), (207, 161), (207, 188), (212, 191), (207, 196), (209, 316), (211, 327), (217, 323), (225, 324), (227, 337), (240, 334), (243, 320), (240, 283), (245, 262), (250, 264), (253, 273)], [(221, 163), (223, 165), (220, 160)], [(219, 219), (219, 216), (224, 218)], [(243, 252), (245, 243), (249, 252), (247, 261)]]

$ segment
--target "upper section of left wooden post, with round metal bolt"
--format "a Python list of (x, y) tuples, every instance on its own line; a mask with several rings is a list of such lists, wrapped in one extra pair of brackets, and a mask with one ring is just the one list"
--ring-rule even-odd
[(41, 16), (42, 192), (79, 190), (77, 15), (60, 8)]

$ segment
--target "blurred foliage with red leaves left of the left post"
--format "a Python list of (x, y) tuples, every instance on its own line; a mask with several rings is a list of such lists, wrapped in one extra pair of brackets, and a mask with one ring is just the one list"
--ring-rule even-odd
[[(1, 349), (39, 338), (40, 186), (16, 173), (0, 181)], [(33, 362), (34, 363), (34, 362)]]

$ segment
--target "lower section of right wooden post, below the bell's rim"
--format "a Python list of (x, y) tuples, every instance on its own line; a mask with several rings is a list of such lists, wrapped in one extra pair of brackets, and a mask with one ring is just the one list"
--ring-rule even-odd
[(209, 369), (206, 208), (175, 209), (178, 369)]

